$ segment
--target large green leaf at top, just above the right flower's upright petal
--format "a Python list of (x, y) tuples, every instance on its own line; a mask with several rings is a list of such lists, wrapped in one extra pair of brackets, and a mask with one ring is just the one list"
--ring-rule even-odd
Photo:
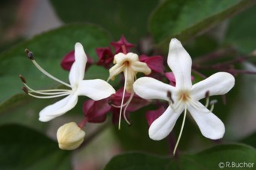
[(170, 38), (186, 41), (252, 3), (250, 0), (166, 0), (151, 15), (149, 30), (157, 43)]

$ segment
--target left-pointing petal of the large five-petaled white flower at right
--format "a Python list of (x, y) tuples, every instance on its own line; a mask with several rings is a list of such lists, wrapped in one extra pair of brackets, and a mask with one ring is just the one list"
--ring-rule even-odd
[(133, 90), (143, 99), (163, 99), (169, 101), (167, 92), (175, 95), (175, 87), (151, 77), (141, 77), (133, 83)]

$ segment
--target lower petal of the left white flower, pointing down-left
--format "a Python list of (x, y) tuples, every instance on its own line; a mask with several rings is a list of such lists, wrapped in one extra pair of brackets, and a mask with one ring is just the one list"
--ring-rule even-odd
[(59, 117), (62, 114), (65, 114), (67, 111), (70, 111), (78, 102), (78, 96), (69, 95), (64, 99), (59, 100), (53, 105), (48, 105), (39, 113), (39, 120), (42, 122), (47, 122)]

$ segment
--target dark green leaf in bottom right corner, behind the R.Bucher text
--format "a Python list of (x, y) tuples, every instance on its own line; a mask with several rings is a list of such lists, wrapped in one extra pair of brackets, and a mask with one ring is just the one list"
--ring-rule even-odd
[(255, 159), (256, 150), (253, 147), (242, 144), (223, 144), (194, 155), (181, 156), (178, 161), (178, 167), (187, 170), (215, 170), (224, 165), (226, 166), (225, 169), (232, 169), (232, 167), (227, 166), (233, 162), (254, 163)]

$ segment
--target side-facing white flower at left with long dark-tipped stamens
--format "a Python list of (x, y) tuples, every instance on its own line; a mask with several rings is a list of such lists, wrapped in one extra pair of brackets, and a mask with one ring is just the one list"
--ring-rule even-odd
[[(53, 80), (62, 83), (66, 87), (69, 87), (70, 90), (32, 90), (27, 84), (26, 80), (20, 76), (23, 80), (23, 83), (26, 87), (23, 88), (26, 93), (30, 96), (36, 98), (55, 98), (59, 96), (66, 96), (64, 99), (59, 100), (59, 102), (49, 105), (44, 108), (39, 113), (39, 120), (46, 122), (52, 120), (55, 117), (59, 117), (62, 114), (65, 114), (67, 111), (75, 107), (78, 102), (78, 96), (87, 96), (93, 100), (105, 99), (111, 94), (115, 93), (115, 90), (109, 83), (105, 80), (95, 79), (95, 80), (83, 80), (84, 79), (84, 70), (87, 63), (87, 56), (84, 53), (84, 48), (82, 44), (75, 44), (75, 62), (72, 65), (72, 68), (69, 72), (69, 82), (65, 83), (62, 80), (53, 77), (49, 74), (37, 62), (35, 62), (32, 52), (26, 51), (28, 53), (29, 59), (35, 64), (35, 66), (48, 77)], [(35, 95), (36, 94), (36, 95)]]

